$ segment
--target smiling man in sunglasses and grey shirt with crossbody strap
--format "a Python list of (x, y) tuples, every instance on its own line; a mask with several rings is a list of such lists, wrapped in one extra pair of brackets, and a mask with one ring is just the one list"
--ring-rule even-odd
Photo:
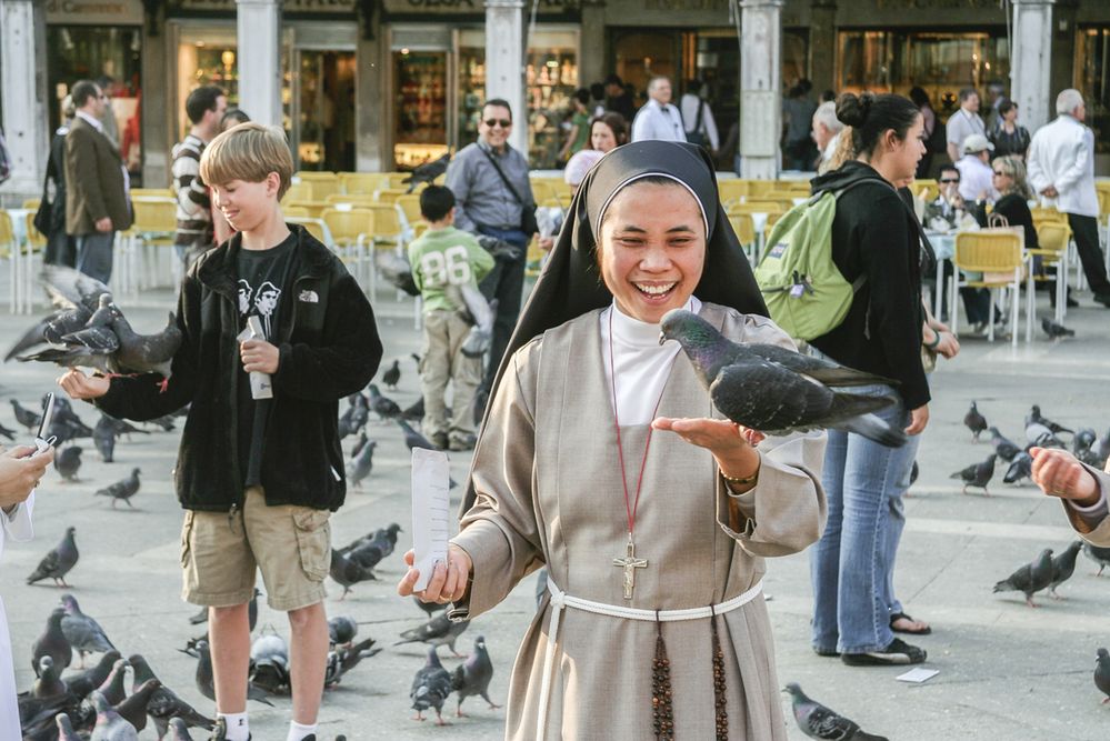
[[(447, 168), (447, 187), (456, 200), (454, 226), (509, 242), (518, 251), (512, 258), (499, 258), (479, 286), (486, 298), (498, 300), (481, 390), (489, 389), (517, 324), (528, 242), (536, 233), (536, 197), (528, 181), (528, 159), (509, 144), (511, 131), (509, 102), (500, 98), (486, 101), (478, 141), (459, 150)], [(551, 239), (540, 239), (540, 247), (550, 249)]]

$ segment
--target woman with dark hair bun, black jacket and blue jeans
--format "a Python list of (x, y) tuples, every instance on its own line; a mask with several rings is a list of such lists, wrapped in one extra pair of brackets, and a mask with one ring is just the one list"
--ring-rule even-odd
[(902, 524), (891, 501), (909, 485), (917, 435), (929, 421), (919, 226), (894, 190), (913, 177), (924, 153), (924, 126), (918, 108), (893, 94), (844, 93), (837, 117), (852, 127), (856, 159), (813, 180), (813, 191), (856, 186), (837, 204), (832, 259), (849, 282), (866, 280), (844, 321), (811, 344), (839, 363), (897, 380), (896, 391), (858, 391), (897, 393), (901, 404), (878, 415), (910, 438), (887, 448), (856, 433), (828, 433), (822, 484), (829, 520), (811, 551), (812, 644), (849, 665), (920, 663), (926, 652), (893, 635), (889, 575)]

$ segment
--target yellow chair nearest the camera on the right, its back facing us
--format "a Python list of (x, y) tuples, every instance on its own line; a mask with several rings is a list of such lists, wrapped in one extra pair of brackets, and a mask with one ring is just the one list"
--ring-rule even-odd
[[(1018, 346), (1018, 301), (1021, 293), (1021, 271), (1026, 264), (1022, 254), (1021, 237), (1016, 232), (1001, 231), (963, 231), (956, 234), (956, 253), (952, 256), (951, 291), (949, 292), (949, 319), (952, 331), (959, 327), (959, 313), (956, 301), (960, 288), (1009, 288), (1012, 291), (1010, 310), (1010, 336), (1014, 347)], [(964, 272), (982, 273), (978, 279), (966, 278)], [(994, 341), (994, 299), (991, 297), (988, 317), (987, 339)], [(1028, 333), (1027, 333), (1028, 334)]]

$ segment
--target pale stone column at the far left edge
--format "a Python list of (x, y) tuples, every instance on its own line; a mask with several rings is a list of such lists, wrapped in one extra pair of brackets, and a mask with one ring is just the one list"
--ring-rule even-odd
[[(42, 193), (50, 150), (46, 17), (33, 0), (0, 0), (0, 96), (11, 177), (0, 189), (13, 203)], [(18, 203), (17, 203), (18, 204)]]

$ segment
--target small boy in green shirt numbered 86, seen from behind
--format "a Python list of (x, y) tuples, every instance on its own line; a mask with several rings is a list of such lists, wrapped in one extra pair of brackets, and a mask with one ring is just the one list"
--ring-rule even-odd
[[(459, 306), (459, 290), (493, 269), (493, 256), (482, 249), (473, 234), (456, 229), (454, 193), (442, 186), (429, 186), (420, 193), (420, 216), (428, 231), (409, 244), (412, 279), (420, 289), (424, 312), (423, 359), (420, 385), (424, 397), (424, 433), (439, 448), (470, 450), (474, 447), (471, 404), (482, 378), (482, 359), (468, 358), (462, 343), (470, 332)], [(443, 394), (453, 381), (451, 419), (447, 418)]]

